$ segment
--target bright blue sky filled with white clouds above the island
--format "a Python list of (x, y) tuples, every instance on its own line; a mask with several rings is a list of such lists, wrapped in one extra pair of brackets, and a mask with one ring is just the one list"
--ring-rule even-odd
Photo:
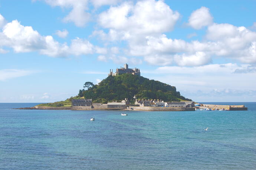
[(256, 0), (0, 0), (0, 102), (76, 96), (109, 69), (198, 102), (256, 101)]

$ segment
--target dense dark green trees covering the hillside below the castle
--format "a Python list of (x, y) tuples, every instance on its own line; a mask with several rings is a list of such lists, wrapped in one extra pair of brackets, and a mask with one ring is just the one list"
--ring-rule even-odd
[(106, 101), (123, 100), (124, 98), (132, 100), (134, 94), (138, 99), (191, 101), (191, 99), (181, 96), (174, 86), (132, 74), (108, 76), (98, 85), (94, 85), (84, 92), (85, 98), (92, 99), (93, 102), (97, 101), (95, 103), (102, 103), (102, 101), (106, 103)]

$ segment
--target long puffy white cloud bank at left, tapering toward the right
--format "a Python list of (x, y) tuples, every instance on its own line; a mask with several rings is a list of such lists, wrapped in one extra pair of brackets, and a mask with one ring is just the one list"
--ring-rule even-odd
[[(71, 40), (70, 46), (66, 43), (59, 43), (52, 36), (41, 36), (32, 27), (23, 26), (17, 20), (13, 20), (3, 27), (0, 39), (0, 47), (12, 47), (16, 53), (39, 51), (40, 54), (52, 57), (79, 56), (103, 50), (100, 47), (94, 49), (88, 40), (78, 37)], [(0, 48), (0, 52), (6, 53), (7, 51)]]

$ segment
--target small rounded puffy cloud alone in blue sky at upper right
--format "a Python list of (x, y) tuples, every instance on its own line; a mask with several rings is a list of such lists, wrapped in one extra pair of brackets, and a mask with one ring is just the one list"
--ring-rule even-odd
[(209, 26), (212, 23), (213, 17), (207, 7), (201, 7), (200, 9), (193, 11), (188, 19), (188, 25), (197, 30), (204, 26)]

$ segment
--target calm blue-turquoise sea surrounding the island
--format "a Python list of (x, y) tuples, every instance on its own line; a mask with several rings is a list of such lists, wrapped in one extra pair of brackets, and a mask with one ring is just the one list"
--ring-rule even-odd
[(0, 103), (0, 169), (256, 169), (256, 102), (208, 103), (247, 111), (13, 109), (37, 104)]

